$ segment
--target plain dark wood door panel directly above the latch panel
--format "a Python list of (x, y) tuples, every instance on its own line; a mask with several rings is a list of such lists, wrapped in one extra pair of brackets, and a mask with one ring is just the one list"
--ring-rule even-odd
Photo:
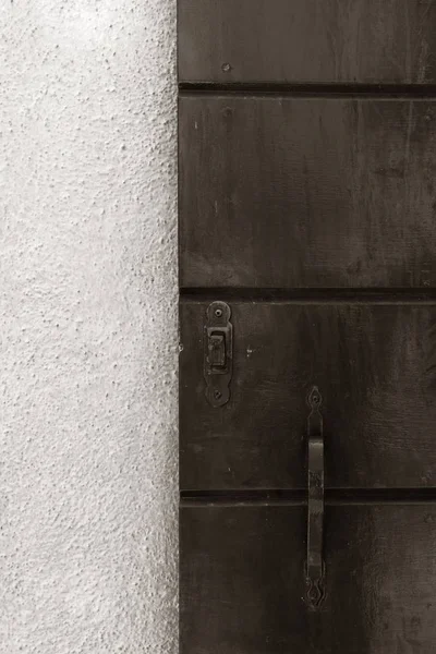
[(181, 286), (436, 286), (435, 125), (433, 100), (181, 98)]

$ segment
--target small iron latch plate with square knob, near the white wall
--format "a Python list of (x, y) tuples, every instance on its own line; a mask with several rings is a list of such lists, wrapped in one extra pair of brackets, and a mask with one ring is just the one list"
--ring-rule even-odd
[(231, 310), (226, 302), (213, 302), (207, 307), (204, 376), (206, 398), (213, 407), (222, 407), (230, 399), (233, 358), (233, 328), (230, 316)]

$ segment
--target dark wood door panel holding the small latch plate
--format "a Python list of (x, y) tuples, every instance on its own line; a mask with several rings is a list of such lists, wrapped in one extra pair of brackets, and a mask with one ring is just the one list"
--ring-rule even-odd
[(230, 302), (221, 408), (205, 397), (207, 306), (181, 305), (182, 489), (304, 487), (313, 385), (327, 486), (436, 486), (436, 304)]

